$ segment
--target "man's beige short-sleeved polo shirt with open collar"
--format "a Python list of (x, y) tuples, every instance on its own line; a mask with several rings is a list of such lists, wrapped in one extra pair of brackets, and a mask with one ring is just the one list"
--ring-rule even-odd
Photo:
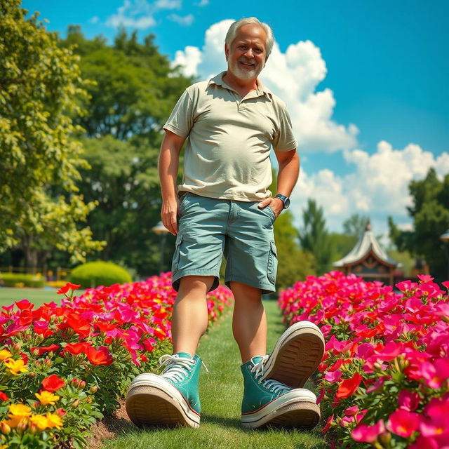
[(286, 105), (257, 80), (245, 98), (222, 72), (189, 86), (164, 129), (188, 138), (178, 192), (237, 201), (272, 196), (270, 149), (296, 149)]

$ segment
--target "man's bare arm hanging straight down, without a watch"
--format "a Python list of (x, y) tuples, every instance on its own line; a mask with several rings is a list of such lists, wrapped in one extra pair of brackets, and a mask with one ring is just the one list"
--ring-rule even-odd
[(180, 151), (185, 138), (166, 130), (159, 154), (159, 180), (162, 190), (161, 219), (163, 225), (174, 236), (177, 234), (177, 210), (179, 199), (176, 194), (176, 177)]

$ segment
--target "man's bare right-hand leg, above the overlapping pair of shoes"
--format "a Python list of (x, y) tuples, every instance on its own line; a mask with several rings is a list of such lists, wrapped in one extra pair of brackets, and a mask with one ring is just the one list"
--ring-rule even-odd
[(232, 332), (239, 345), (241, 361), (267, 354), (267, 317), (262, 304), (260, 288), (232, 282), (234, 316)]

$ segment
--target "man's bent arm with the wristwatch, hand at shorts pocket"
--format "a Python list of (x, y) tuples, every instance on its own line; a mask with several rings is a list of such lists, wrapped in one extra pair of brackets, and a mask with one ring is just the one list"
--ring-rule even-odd
[[(275, 151), (274, 154), (276, 154), (276, 159), (279, 163), (276, 194), (290, 196), (293, 187), (295, 187), (297, 177), (300, 174), (300, 156), (298, 156), (295, 149), (292, 149), (290, 152)], [(283, 201), (280, 198), (270, 197), (260, 201), (258, 206), (263, 209), (268, 205), (274, 210), (276, 217), (279, 217), (279, 214), (283, 210)]]

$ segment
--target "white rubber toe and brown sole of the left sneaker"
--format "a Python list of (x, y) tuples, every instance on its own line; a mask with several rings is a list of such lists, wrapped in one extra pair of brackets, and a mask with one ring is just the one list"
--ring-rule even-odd
[(164, 383), (156, 379), (131, 384), (125, 403), (130, 420), (139, 427), (199, 427), (200, 415), (189, 408), (180, 391)]

